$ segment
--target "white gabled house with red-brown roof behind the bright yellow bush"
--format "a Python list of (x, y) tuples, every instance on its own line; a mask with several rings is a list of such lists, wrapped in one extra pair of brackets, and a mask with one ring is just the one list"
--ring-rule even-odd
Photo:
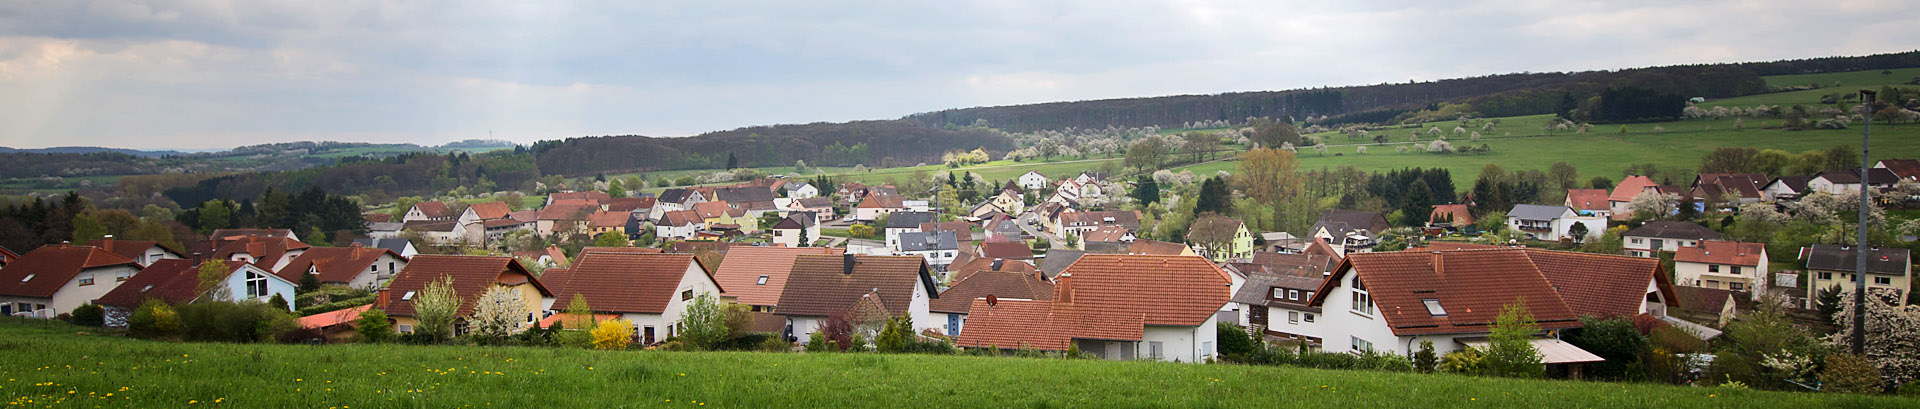
[(634, 334), (647, 346), (685, 328), (680, 319), (693, 298), (720, 301), (722, 292), (707, 265), (691, 253), (586, 252), (572, 267), (540, 278), (553, 288), (549, 311), (566, 311), (574, 296), (584, 296), (593, 313), (632, 323)]

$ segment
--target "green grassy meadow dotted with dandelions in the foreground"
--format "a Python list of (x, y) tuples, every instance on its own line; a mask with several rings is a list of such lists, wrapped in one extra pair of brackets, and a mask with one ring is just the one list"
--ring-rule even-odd
[[(1240, 365), (165, 344), (0, 321), (21, 407), (1912, 407), (1914, 399)], [(21, 353), (33, 351), (33, 353)]]

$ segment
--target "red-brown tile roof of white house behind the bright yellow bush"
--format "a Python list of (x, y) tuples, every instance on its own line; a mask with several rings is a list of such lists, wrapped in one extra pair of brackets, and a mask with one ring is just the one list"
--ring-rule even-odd
[(588, 252), (566, 269), (564, 282), (547, 278), (547, 284), (553, 286), (553, 309), (566, 309), (580, 294), (599, 313), (664, 313), (687, 269), (705, 273), (707, 265), (691, 253)]

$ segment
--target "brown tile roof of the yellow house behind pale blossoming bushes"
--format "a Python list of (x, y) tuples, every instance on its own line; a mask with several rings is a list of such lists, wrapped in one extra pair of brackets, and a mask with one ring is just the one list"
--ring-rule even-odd
[[(413, 300), (403, 300), (409, 292), (420, 292), (426, 284), (442, 280), (442, 277), (453, 277), (453, 296), (461, 300), (461, 307), (453, 313), (455, 317), (467, 317), (474, 311), (474, 300), (486, 294), (488, 288), (495, 284), (520, 284), (532, 282), (540, 288), (540, 296), (553, 296), (540, 278), (534, 278), (520, 261), (505, 255), (415, 255), (407, 261), (407, 269), (380, 290), (380, 309), (394, 317), (413, 317)], [(419, 298), (419, 294), (415, 294)]]

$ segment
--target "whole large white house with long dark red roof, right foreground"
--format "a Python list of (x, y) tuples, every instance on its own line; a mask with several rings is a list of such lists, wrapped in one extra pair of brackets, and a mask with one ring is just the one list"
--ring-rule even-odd
[[(1548, 334), (1582, 315), (1665, 317), (1676, 305), (1657, 259), (1530, 248), (1348, 253), (1308, 301), (1325, 311), (1323, 349), (1400, 355), (1421, 342), (1438, 353), (1484, 346), (1509, 303)], [(1597, 359), (1551, 336), (1534, 346), (1549, 365)]]

